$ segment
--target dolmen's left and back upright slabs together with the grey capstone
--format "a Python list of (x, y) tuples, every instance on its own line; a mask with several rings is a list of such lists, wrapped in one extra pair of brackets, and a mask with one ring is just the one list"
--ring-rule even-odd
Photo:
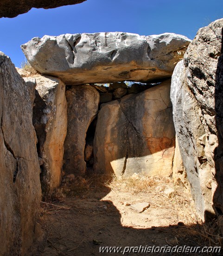
[(47, 197), (59, 186), (62, 171), (83, 175), (87, 162), (102, 174), (172, 174), (168, 78), (178, 50), (189, 43), (176, 34), (45, 36), (22, 46), (42, 73), (24, 79), (0, 55), (3, 255), (25, 254), (33, 240), (40, 182)]

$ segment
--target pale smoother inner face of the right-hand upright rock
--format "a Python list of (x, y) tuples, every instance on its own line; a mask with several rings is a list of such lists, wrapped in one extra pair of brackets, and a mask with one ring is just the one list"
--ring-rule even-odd
[(212, 193), (206, 183), (212, 178), (214, 163), (207, 161), (210, 155), (207, 156), (206, 152), (210, 150), (200, 119), (201, 109), (189, 91), (184, 61), (180, 61), (174, 69), (171, 99), (180, 153), (198, 213), (204, 219), (205, 211), (213, 213)]

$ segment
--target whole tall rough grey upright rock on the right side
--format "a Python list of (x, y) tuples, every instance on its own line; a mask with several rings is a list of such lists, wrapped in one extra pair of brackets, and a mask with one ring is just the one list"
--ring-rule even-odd
[(222, 30), (223, 19), (201, 28), (172, 79), (180, 152), (203, 218), (223, 212)]

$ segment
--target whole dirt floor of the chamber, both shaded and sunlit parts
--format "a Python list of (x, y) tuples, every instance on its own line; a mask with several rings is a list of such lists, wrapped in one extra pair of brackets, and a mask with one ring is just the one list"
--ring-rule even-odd
[[(142, 202), (148, 208), (135, 210), (134, 204)], [(27, 256), (123, 255), (100, 253), (100, 247), (203, 247), (222, 243), (216, 222), (204, 225), (200, 221), (191, 195), (182, 184), (174, 185), (171, 178), (137, 175), (106, 184), (105, 178), (95, 175), (78, 180), (72, 175), (64, 178), (51, 200), (41, 202), (36, 227), (36, 242)]]

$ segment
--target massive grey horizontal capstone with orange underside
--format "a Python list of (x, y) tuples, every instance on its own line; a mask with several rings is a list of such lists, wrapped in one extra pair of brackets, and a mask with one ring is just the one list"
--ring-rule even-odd
[(38, 72), (65, 84), (151, 81), (171, 77), (178, 50), (191, 40), (177, 34), (112, 32), (35, 37), (22, 45)]

